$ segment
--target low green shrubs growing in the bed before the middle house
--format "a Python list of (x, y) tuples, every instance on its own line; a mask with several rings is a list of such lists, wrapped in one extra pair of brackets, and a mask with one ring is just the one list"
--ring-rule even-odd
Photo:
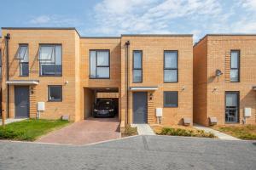
[(186, 130), (183, 128), (172, 128), (172, 127), (163, 127), (160, 135), (170, 135), (170, 136), (195, 136), (195, 137), (205, 137), (205, 138), (214, 138), (213, 133), (206, 133), (203, 130)]

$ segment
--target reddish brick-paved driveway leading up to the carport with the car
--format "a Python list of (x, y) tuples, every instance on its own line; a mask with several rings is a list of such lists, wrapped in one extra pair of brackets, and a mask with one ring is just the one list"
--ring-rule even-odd
[(40, 138), (37, 142), (56, 144), (90, 144), (109, 139), (118, 139), (119, 120), (114, 118), (89, 118), (61, 128)]

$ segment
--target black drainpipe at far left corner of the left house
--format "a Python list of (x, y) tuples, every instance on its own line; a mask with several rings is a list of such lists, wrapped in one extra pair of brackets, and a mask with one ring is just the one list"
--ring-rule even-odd
[[(4, 37), (5, 39), (5, 48), (6, 48), (6, 81), (9, 81), (9, 33), (6, 34)], [(9, 84), (7, 84), (7, 104), (6, 104), (6, 110), (7, 110), (7, 116), (9, 116)], [(2, 114), (2, 120), (3, 120), (3, 127), (5, 122), (5, 116)]]

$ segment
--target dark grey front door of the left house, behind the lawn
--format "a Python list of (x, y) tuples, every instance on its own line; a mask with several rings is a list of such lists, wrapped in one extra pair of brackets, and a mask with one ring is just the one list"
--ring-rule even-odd
[(29, 116), (29, 88), (15, 87), (15, 117)]

